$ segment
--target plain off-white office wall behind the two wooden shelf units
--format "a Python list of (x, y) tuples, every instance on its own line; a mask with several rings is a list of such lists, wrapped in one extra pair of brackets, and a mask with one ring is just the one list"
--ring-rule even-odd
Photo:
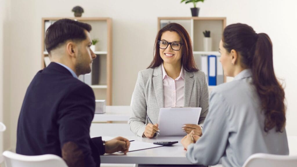
[[(180, 0), (98, 1), (98, 0), (11, 0), (10, 35), (4, 37), (9, 54), (11, 145), (15, 147), (16, 127), (27, 86), (41, 68), (41, 18), (72, 16), (72, 7), (80, 5), (83, 17), (113, 18), (113, 105), (129, 105), (139, 70), (152, 60), (157, 17), (190, 16), (192, 4)], [(227, 17), (231, 23), (247, 23), (257, 32), (267, 33), (274, 44), (274, 67), (286, 84), (287, 133), (297, 131), (296, 2), (293, 0), (206, 0), (198, 3), (200, 16)], [(135, 42), (136, 41), (136, 42)], [(5, 66), (4, 66), (5, 68)], [(5, 86), (5, 85), (4, 85)], [(123, 89), (125, 88), (125, 89)], [(6, 88), (4, 88), (6, 89)]]

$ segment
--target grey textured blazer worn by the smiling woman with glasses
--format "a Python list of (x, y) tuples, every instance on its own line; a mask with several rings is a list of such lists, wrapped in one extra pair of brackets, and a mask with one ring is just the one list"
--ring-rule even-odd
[[(203, 124), (208, 112), (208, 83), (203, 71), (184, 70), (184, 107), (201, 107), (198, 124)], [(146, 115), (156, 124), (160, 108), (164, 108), (164, 91), (161, 65), (138, 73), (132, 99), (132, 113), (128, 121), (130, 130), (142, 136)]]

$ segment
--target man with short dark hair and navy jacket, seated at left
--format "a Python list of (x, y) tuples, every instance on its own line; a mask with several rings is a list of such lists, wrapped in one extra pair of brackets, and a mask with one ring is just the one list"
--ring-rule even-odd
[(78, 80), (91, 72), (96, 58), (89, 31), (89, 24), (70, 19), (56, 21), (46, 31), (51, 63), (27, 89), (18, 120), (18, 154), (55, 154), (68, 166), (93, 167), (100, 166), (104, 153), (128, 152), (126, 138), (102, 141), (89, 135), (95, 97), (91, 87)]

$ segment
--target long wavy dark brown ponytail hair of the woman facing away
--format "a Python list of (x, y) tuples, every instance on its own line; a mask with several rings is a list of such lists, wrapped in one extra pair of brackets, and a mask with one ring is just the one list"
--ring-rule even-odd
[(239, 53), (241, 65), (252, 70), (253, 84), (260, 97), (265, 114), (264, 130), (285, 127), (285, 92), (278, 82), (273, 68), (272, 43), (265, 33), (257, 34), (246, 24), (231, 24), (223, 33), (223, 46)]

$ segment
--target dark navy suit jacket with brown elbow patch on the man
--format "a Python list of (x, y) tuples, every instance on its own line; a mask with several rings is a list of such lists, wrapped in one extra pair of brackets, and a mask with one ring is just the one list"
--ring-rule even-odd
[(95, 97), (90, 86), (57, 63), (31, 81), (20, 111), (16, 152), (55, 154), (68, 166), (100, 166), (101, 137), (90, 138)]

